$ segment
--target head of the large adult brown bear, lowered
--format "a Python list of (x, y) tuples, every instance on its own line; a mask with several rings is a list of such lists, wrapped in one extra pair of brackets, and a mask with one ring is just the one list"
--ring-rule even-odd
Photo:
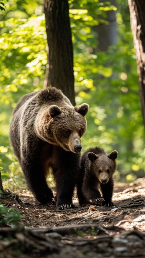
[(54, 144), (61, 146), (66, 151), (74, 153), (81, 151), (80, 138), (87, 127), (85, 115), (88, 109), (89, 105), (86, 103), (76, 107), (64, 106), (61, 108), (56, 105), (49, 107), (49, 115), (52, 118), (50, 130), (51, 137), (55, 141)]

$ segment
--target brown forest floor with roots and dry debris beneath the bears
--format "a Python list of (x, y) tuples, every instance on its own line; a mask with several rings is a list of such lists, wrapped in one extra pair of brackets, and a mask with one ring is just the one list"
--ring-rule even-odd
[(144, 179), (116, 184), (114, 206), (87, 205), (56, 210), (36, 206), (29, 191), (19, 192), (25, 203), (12, 199), (2, 204), (17, 209), (24, 227), (0, 228), (0, 258), (11, 257), (145, 257)]

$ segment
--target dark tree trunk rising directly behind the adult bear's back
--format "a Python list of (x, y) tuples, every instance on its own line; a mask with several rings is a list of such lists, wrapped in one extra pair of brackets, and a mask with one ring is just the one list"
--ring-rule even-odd
[[(48, 64), (44, 87), (55, 86), (75, 104), (73, 48), (67, 0), (44, 0)], [(48, 72), (49, 70), (49, 72)]]

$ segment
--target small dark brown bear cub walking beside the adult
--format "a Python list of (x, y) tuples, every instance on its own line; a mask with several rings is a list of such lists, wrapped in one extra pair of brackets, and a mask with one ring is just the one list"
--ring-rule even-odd
[(107, 154), (102, 148), (95, 147), (82, 155), (80, 183), (77, 189), (80, 205), (88, 203), (91, 199), (95, 204), (113, 206), (113, 173), (117, 168), (117, 154), (117, 151)]

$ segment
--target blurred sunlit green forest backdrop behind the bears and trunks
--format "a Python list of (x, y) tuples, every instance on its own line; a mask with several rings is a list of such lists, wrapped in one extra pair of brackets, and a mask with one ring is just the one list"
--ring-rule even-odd
[[(116, 149), (116, 180), (135, 180), (144, 170), (143, 119), (128, 2), (68, 2), (75, 101), (90, 105), (83, 151), (96, 145), (108, 153)], [(11, 189), (24, 188), (24, 180), (9, 144), (9, 123), (20, 97), (43, 88), (47, 36), (41, 1), (4, 3), (6, 11), (0, 13), (0, 161), (3, 185)]]

